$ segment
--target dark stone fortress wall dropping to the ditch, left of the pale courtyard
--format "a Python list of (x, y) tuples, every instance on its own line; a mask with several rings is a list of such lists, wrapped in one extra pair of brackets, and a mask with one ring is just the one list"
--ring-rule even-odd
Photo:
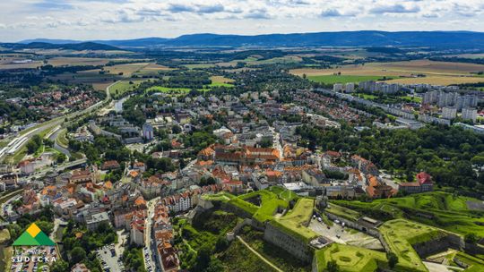
[(292, 256), (305, 263), (310, 263), (313, 259), (313, 251), (309, 249), (306, 242), (284, 233), (278, 227), (271, 225), (271, 223), (265, 225), (264, 240), (271, 242), (284, 251), (288, 251)]

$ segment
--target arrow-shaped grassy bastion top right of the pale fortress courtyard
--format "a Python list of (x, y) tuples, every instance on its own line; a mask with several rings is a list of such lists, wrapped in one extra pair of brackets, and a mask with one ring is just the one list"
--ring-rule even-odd
[(379, 229), (390, 250), (397, 255), (399, 264), (415, 271), (428, 270), (422, 263), (419, 254), (413, 250), (412, 244), (428, 242), (445, 236), (444, 232), (436, 228), (404, 219), (387, 221)]

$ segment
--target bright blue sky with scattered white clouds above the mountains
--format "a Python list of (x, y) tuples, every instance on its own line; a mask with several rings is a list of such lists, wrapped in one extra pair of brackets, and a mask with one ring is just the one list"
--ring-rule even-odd
[(484, 0), (2, 0), (0, 41), (347, 30), (484, 31)]

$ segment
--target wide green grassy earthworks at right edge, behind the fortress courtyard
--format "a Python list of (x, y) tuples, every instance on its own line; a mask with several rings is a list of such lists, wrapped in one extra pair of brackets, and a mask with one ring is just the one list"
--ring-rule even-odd
[[(454, 196), (444, 191), (433, 191), (372, 202), (345, 200), (334, 202), (380, 220), (408, 218), (456, 234), (473, 233), (484, 237), (484, 211), (469, 209), (468, 201), (478, 202), (479, 200)], [(420, 217), (419, 214), (425, 214), (431, 218)]]

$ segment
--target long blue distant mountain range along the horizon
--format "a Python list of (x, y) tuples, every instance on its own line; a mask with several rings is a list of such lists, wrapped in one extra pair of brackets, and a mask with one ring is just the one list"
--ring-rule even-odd
[[(122, 40), (29, 39), (24, 46), (39, 43), (66, 44), (69, 47), (435, 47), (484, 49), (484, 33), (471, 31), (400, 31), (376, 30), (266, 34), (255, 36), (192, 34), (178, 38), (135, 38)], [(74, 46), (77, 45), (77, 46)], [(95, 46), (96, 45), (96, 46)], [(21, 46), (19, 46), (21, 47)], [(107, 48), (110, 48), (107, 47)], [(102, 50), (102, 49), (101, 49)], [(105, 50), (114, 50), (105, 49)]]

